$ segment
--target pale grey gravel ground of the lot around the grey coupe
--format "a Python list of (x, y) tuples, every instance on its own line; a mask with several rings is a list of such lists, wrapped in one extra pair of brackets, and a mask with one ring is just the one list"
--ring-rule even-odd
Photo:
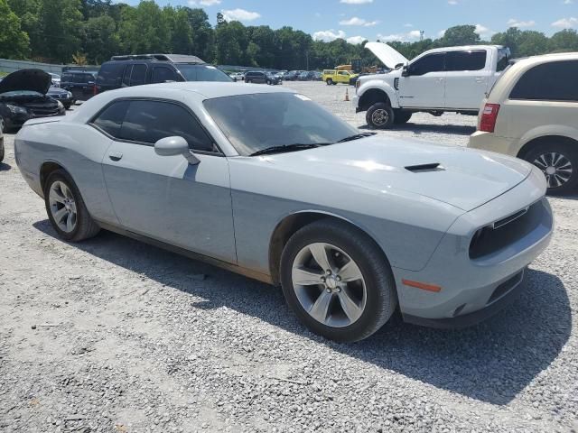
[[(365, 124), (345, 88), (290, 83)], [(351, 88), (350, 88), (351, 89)], [(465, 145), (475, 119), (380, 133)], [(55, 237), (6, 135), (0, 164), (0, 431), (578, 431), (575, 198), (517, 303), (478, 327), (394, 318), (338, 345), (281, 290), (119, 235)]]

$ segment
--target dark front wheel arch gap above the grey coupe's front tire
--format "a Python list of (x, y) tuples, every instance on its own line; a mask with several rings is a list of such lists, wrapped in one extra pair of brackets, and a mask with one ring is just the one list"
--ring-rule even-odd
[(333, 219), (336, 221), (340, 221), (345, 223), (351, 228), (356, 231), (363, 233), (364, 235), (368, 236), (374, 244), (376, 244), (389, 262), (387, 258), (387, 253), (383, 250), (381, 245), (376, 241), (375, 237), (371, 235), (367, 229), (358, 224), (355, 224), (347, 217), (342, 217), (340, 215), (333, 214), (331, 212), (326, 212), (322, 210), (302, 210), (299, 212), (295, 212), (291, 215), (285, 216), (281, 221), (277, 223), (275, 226), (275, 230), (273, 231), (273, 235), (271, 235), (269, 241), (269, 272), (271, 274), (271, 281), (275, 285), (280, 283), (280, 275), (279, 275), (279, 267), (281, 264), (281, 254), (283, 253), (284, 246), (287, 244), (289, 238), (294, 235), (299, 229), (312, 224), (315, 221), (320, 219)]

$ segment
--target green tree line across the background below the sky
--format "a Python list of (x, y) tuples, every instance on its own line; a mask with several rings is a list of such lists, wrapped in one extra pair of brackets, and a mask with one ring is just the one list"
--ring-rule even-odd
[[(360, 59), (378, 60), (361, 44), (343, 39), (314, 41), (292, 27), (226, 22), (212, 26), (203, 9), (159, 6), (143, 0), (132, 6), (112, 0), (0, 0), (0, 58), (100, 64), (112, 55), (146, 52), (194, 54), (211, 63), (269, 69), (326, 69)], [(432, 48), (495, 43), (514, 57), (578, 51), (578, 33), (567, 29), (547, 37), (516, 27), (482, 41), (473, 25), (458, 25), (442, 37), (388, 41), (408, 59)]]

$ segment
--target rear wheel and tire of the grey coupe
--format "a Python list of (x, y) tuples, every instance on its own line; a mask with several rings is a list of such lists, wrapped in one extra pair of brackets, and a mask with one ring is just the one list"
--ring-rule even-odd
[[(62, 200), (66, 200), (66, 204)], [(52, 227), (66, 241), (83, 241), (100, 231), (98, 224), (90, 217), (79, 189), (65, 170), (55, 170), (49, 175), (44, 185), (44, 205)]]

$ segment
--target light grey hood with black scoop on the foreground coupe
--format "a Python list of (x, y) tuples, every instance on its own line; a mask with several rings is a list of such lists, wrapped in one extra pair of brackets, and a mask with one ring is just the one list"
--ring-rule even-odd
[(379, 136), (264, 158), (286, 170), (406, 191), (464, 211), (514, 188), (531, 171), (527, 162), (498, 153)]

